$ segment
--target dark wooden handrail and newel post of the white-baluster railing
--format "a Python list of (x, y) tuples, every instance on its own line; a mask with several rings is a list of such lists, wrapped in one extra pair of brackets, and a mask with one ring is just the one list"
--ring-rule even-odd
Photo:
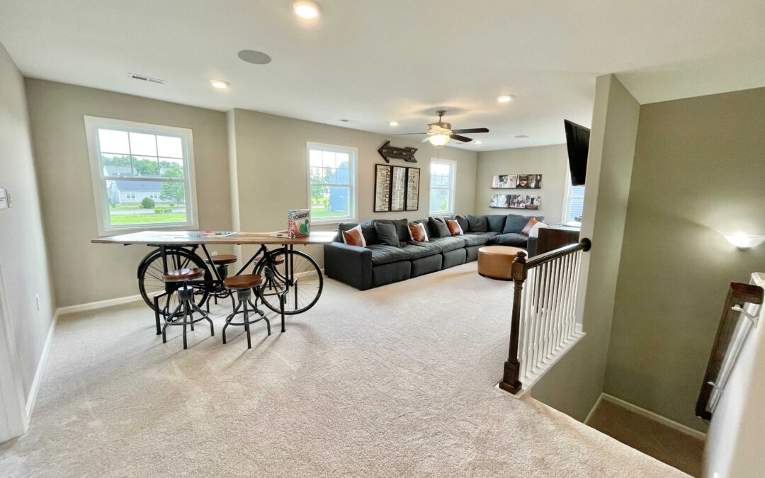
[(555, 249), (544, 254), (537, 255), (531, 259), (526, 260), (526, 252), (517, 252), (516, 259), (513, 260), (512, 277), (515, 284), (513, 289), (513, 317), (510, 322), (510, 344), (507, 359), (504, 364), (504, 372), (502, 376), (502, 382), (500, 382), (500, 389), (506, 390), (510, 393), (518, 393), (521, 389), (520, 377), (520, 360), (518, 354), (518, 341), (520, 330), (520, 318), (521, 318), (521, 296), (523, 292), (523, 283), (526, 278), (529, 277), (529, 270), (539, 267), (546, 262), (552, 262), (555, 259), (560, 259), (566, 255), (574, 254), (578, 251), (587, 252), (591, 249), (592, 242), (590, 239), (584, 238), (580, 242), (575, 244), (569, 244), (563, 246), (560, 249)]

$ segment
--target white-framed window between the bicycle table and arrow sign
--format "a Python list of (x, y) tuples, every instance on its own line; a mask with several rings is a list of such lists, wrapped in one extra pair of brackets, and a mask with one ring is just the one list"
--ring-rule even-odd
[(356, 219), (356, 148), (308, 143), (308, 206), (312, 223)]

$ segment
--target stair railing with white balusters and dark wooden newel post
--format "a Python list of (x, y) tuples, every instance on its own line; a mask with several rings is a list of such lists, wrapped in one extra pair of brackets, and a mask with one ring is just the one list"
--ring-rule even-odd
[(585, 238), (530, 259), (526, 252), (516, 254), (510, 346), (500, 389), (518, 393), (581, 337), (576, 320), (579, 265), (591, 246)]

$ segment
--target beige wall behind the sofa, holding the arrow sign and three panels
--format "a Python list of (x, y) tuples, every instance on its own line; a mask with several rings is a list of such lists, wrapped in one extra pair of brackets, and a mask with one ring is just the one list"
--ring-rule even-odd
[[(232, 118), (233, 116), (233, 118)], [(286, 212), (308, 207), (308, 159), (306, 142), (358, 148), (357, 213), (360, 220), (372, 218), (420, 219), (428, 216), (428, 166), (431, 158), (457, 161), (456, 212), (474, 213), (476, 156), (457, 148), (435, 148), (429, 143), (403, 141), (376, 133), (301, 121), (246, 109), (229, 112), (235, 130), (236, 186), (239, 223), (242, 230), (273, 231), (286, 227)], [(377, 149), (392, 140), (397, 147), (418, 148), (416, 164), (393, 160), (391, 164), (420, 167), (419, 210), (373, 213), (374, 164), (385, 161)], [(236, 223), (236, 219), (235, 219)], [(315, 226), (314, 226), (315, 227)], [(337, 226), (322, 226), (334, 229)], [(319, 229), (319, 227), (316, 227)], [(245, 248), (245, 251), (250, 249)], [(309, 250), (321, 264), (321, 248)], [(246, 252), (245, 252), (246, 255)]]

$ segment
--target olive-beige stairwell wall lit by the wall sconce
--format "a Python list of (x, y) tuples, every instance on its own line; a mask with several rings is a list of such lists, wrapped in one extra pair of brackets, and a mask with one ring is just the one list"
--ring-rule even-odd
[(765, 268), (715, 229), (765, 234), (765, 88), (640, 109), (605, 391), (700, 430), (728, 284)]

